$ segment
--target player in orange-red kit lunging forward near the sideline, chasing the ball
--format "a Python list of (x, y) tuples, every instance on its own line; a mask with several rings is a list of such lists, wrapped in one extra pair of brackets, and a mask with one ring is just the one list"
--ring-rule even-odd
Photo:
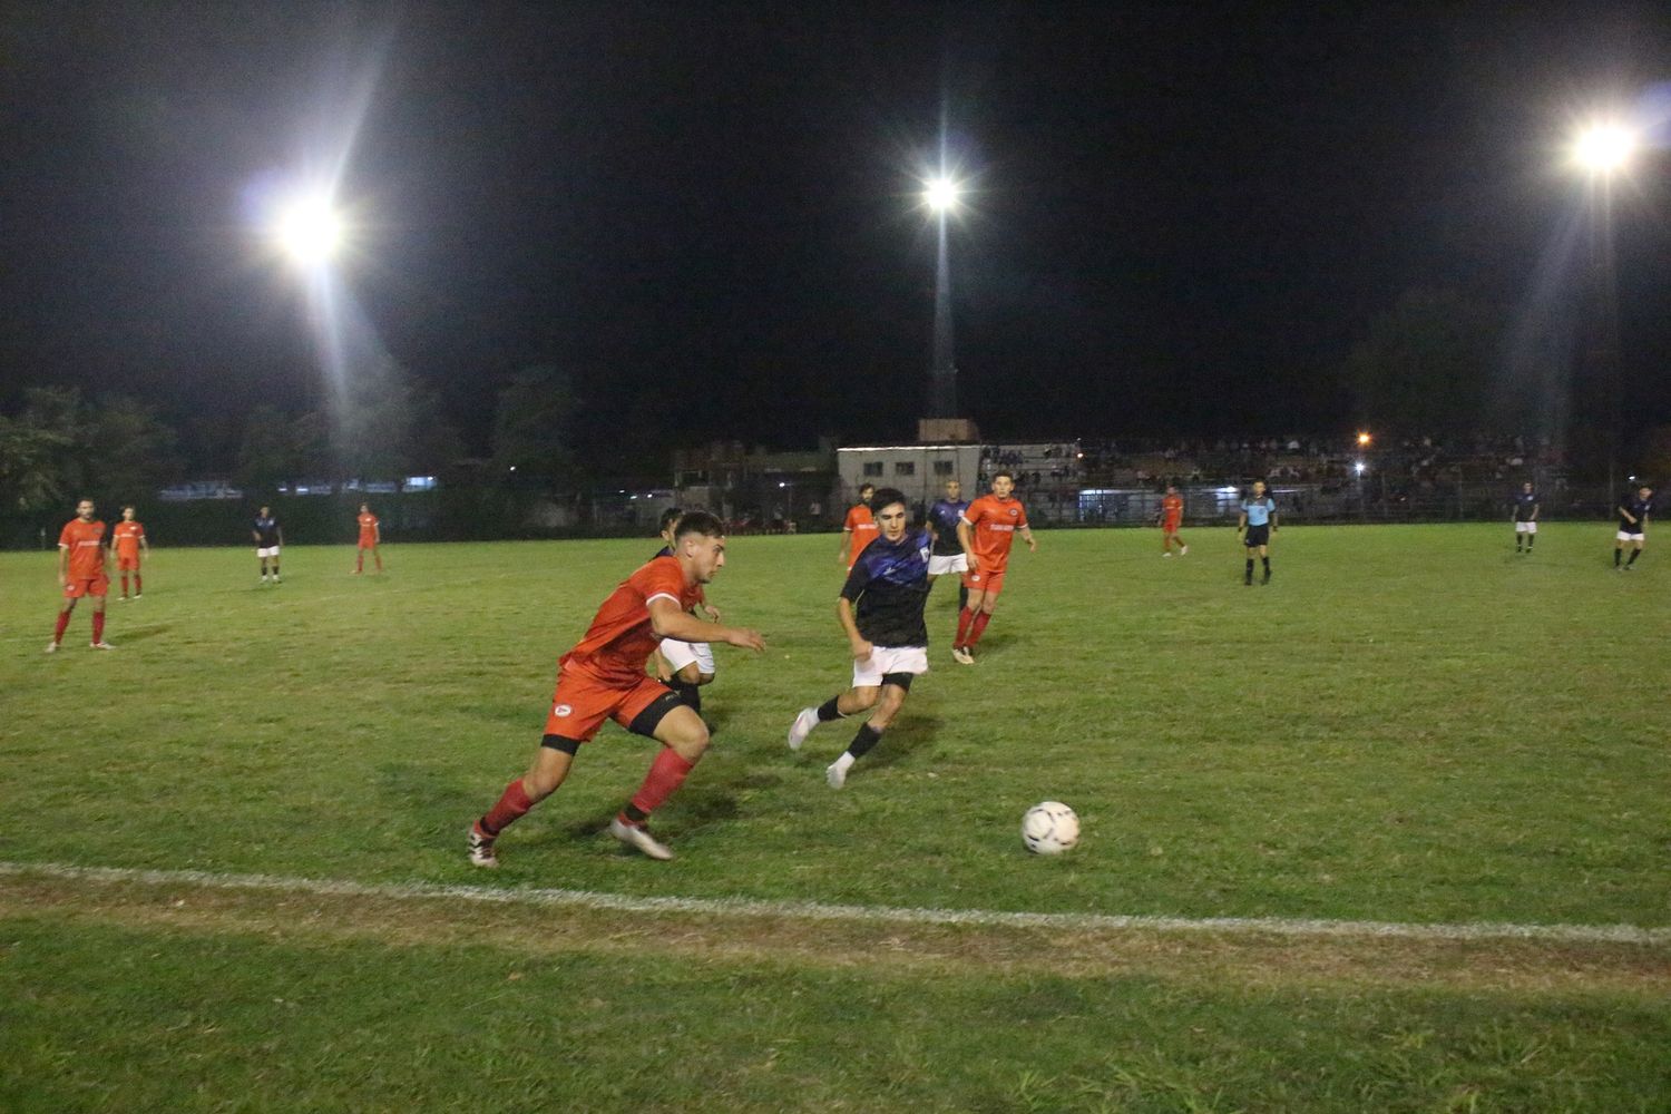
[(610, 593), (585, 638), (558, 661), (556, 693), (533, 765), (470, 828), (470, 862), (496, 867), (493, 842), (505, 828), (550, 797), (575, 762), (580, 745), (615, 720), (635, 735), (662, 743), (650, 773), (610, 822), (610, 835), (650, 858), (673, 852), (645, 828), (645, 820), (685, 782), (709, 748), (709, 728), (678, 693), (645, 675), (662, 638), (724, 641), (764, 650), (759, 631), (703, 623), (690, 615), (702, 585), (725, 566), (725, 536), (712, 514), (692, 511), (673, 531), (673, 553), (650, 558)]

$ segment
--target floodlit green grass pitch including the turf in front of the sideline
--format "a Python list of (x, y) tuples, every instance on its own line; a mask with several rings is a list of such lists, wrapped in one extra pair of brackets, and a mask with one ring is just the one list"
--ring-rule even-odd
[[(1664, 554), (1288, 528), (1243, 588), (1230, 531), (1186, 538), (1043, 533), (973, 668), (942, 581), (934, 668), (839, 793), (852, 723), (784, 747), (849, 678), (837, 541), (737, 538), (709, 595), (769, 651), (717, 650), (715, 745), (655, 818), (678, 858), (603, 833), (653, 750), (608, 727), (491, 873), (465, 827), (652, 539), (364, 578), (292, 548), (282, 586), (159, 549), (119, 650), (84, 605), (50, 658), (55, 558), (0, 554), (0, 1111), (1671, 1109)], [(1084, 828), (1054, 860), (1018, 838), (1043, 798)]]

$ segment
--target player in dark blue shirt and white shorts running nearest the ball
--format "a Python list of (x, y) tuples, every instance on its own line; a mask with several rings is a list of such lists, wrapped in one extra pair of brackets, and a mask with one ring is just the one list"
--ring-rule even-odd
[(871, 503), (879, 534), (847, 573), (836, 616), (852, 648), (852, 688), (817, 708), (804, 708), (789, 728), (789, 748), (800, 750), (819, 723), (871, 710), (847, 750), (824, 772), (830, 788), (882, 738), (911, 691), (911, 678), (929, 671), (929, 534), (906, 524), (906, 496), (882, 488)]

